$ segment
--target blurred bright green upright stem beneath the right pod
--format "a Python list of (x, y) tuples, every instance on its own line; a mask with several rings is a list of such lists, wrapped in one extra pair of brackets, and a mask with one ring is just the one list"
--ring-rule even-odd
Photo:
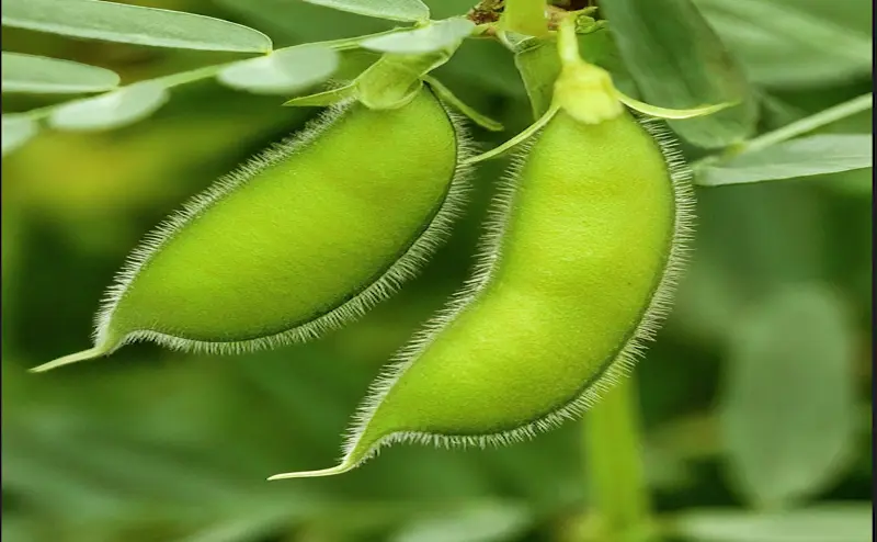
[(634, 377), (623, 379), (584, 418), (588, 478), (602, 538), (648, 540), (649, 493), (642, 466)]

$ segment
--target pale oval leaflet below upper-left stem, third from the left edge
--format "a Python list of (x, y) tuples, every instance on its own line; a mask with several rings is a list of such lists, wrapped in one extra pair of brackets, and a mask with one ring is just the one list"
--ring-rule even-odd
[(300, 45), (235, 63), (219, 72), (219, 82), (258, 94), (288, 94), (334, 74), (339, 55), (323, 45)]

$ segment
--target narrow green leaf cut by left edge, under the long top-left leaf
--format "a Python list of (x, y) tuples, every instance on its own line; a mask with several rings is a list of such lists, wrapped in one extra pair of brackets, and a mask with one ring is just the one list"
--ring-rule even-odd
[(45, 56), (2, 55), (3, 92), (101, 92), (118, 84), (118, 76), (105, 68)]

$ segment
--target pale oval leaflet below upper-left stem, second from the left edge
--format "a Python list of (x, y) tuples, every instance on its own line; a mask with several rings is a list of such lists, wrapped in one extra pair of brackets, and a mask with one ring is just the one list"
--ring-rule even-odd
[(136, 83), (99, 97), (61, 104), (52, 112), (48, 124), (66, 131), (118, 128), (146, 118), (169, 98), (168, 89), (161, 84)]

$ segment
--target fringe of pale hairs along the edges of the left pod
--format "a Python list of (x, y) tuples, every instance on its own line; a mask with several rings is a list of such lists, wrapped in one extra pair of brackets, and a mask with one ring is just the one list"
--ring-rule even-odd
[[(429, 92), (432, 92), (432, 90), (429, 90)], [(144, 329), (130, 331), (125, 337), (119, 338), (115, 348), (106, 353), (112, 353), (125, 345), (141, 340), (153, 341), (174, 350), (210, 354), (238, 354), (277, 348), (293, 342), (305, 342), (361, 318), (377, 303), (397, 292), (407, 280), (419, 273), (422, 264), (448, 237), (453, 223), (463, 214), (469, 192), (469, 178), (472, 168), (466, 165), (465, 161), (477, 149), (463, 117), (452, 111), (441, 99), (437, 97), (435, 99), (438, 100), (452, 123), (456, 140), (456, 167), (447, 193), (429, 226), (396, 262), (362, 292), (311, 321), (267, 337), (241, 341), (208, 342)], [(250, 178), (312, 144), (326, 129), (348, 113), (354, 103), (354, 99), (349, 99), (329, 106), (300, 132), (274, 144), (267, 150), (244, 162), (236, 171), (220, 178), (213, 187), (193, 196), (183, 204), (180, 211), (147, 234), (140, 246), (130, 252), (122, 270), (116, 274), (113, 285), (104, 294), (101, 308), (95, 317), (95, 331), (92, 336), (94, 343), (100, 346), (104, 341), (112, 340), (109, 334), (110, 321), (114, 310), (138, 272), (149, 263), (152, 256), (166, 242), (171, 240), (185, 225), (196, 219), (204, 210), (221, 200), (242, 183), (248, 182)]]

